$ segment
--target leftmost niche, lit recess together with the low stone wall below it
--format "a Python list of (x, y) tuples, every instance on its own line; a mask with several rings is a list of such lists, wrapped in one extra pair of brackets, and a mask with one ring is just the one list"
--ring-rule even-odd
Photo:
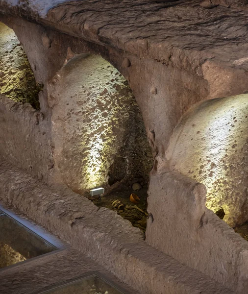
[(15, 32), (0, 23), (0, 159), (48, 182), (50, 129), (40, 108), (35, 81)]

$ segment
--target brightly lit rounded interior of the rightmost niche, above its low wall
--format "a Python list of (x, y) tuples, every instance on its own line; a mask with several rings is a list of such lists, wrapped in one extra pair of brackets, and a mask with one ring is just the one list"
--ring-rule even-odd
[(207, 188), (206, 207), (230, 226), (248, 221), (248, 95), (216, 98), (189, 110), (167, 150), (170, 165)]

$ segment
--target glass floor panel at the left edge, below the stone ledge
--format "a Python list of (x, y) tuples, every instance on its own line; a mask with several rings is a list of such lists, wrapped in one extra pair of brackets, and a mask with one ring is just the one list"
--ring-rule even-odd
[(0, 210), (0, 269), (56, 249), (54, 245)]

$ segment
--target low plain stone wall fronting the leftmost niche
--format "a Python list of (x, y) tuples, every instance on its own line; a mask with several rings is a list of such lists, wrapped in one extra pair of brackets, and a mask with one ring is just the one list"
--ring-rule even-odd
[(0, 95), (0, 158), (48, 181), (51, 146), (43, 114)]

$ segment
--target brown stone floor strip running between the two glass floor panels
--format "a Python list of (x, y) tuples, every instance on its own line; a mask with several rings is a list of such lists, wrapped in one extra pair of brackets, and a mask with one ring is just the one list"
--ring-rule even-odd
[(0, 270), (0, 293), (37, 294), (50, 287), (93, 273), (98, 273), (115, 283), (117, 288), (125, 289), (127, 294), (133, 293), (132, 289), (107, 272), (105, 268), (72, 247)]

